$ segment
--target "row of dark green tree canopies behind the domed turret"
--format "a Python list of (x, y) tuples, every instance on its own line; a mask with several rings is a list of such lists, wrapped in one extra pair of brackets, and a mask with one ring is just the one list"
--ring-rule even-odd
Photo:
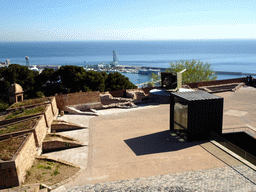
[(83, 67), (66, 65), (54, 71), (45, 68), (40, 74), (18, 64), (0, 68), (0, 99), (8, 101), (7, 91), (11, 84), (18, 83), (24, 90), (24, 98), (52, 96), (56, 93), (79, 91), (114, 91), (136, 88), (120, 73), (86, 71)]

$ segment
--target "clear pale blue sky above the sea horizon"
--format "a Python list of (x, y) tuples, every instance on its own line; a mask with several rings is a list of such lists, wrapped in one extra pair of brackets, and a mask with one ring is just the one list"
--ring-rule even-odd
[(256, 38), (256, 0), (0, 0), (0, 41)]

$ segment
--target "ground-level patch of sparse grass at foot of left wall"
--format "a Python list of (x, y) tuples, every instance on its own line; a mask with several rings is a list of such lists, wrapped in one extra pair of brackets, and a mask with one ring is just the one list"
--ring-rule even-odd
[(29, 171), (31, 174), (26, 175), (24, 184), (45, 183), (46, 185), (52, 185), (74, 175), (79, 171), (79, 168), (51, 160), (35, 159)]

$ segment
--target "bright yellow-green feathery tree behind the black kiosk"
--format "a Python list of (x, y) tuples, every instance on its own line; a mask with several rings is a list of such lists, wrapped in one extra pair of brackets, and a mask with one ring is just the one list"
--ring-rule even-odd
[(200, 81), (212, 81), (217, 79), (217, 75), (211, 69), (209, 63), (203, 63), (197, 60), (180, 60), (170, 63), (170, 68), (167, 72), (180, 72), (186, 69), (182, 73), (182, 83), (200, 82)]

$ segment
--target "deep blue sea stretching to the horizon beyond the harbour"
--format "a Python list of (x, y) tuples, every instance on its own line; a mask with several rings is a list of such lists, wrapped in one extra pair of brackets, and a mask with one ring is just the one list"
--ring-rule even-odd
[[(161, 41), (63, 41), (0, 42), (0, 62), (26, 65), (85, 66), (113, 61), (118, 53), (119, 65), (163, 67), (180, 60), (200, 60), (214, 71), (256, 74), (256, 40), (161, 40)], [(134, 84), (150, 81), (147, 75), (123, 73)], [(243, 75), (218, 75), (231, 79)]]

